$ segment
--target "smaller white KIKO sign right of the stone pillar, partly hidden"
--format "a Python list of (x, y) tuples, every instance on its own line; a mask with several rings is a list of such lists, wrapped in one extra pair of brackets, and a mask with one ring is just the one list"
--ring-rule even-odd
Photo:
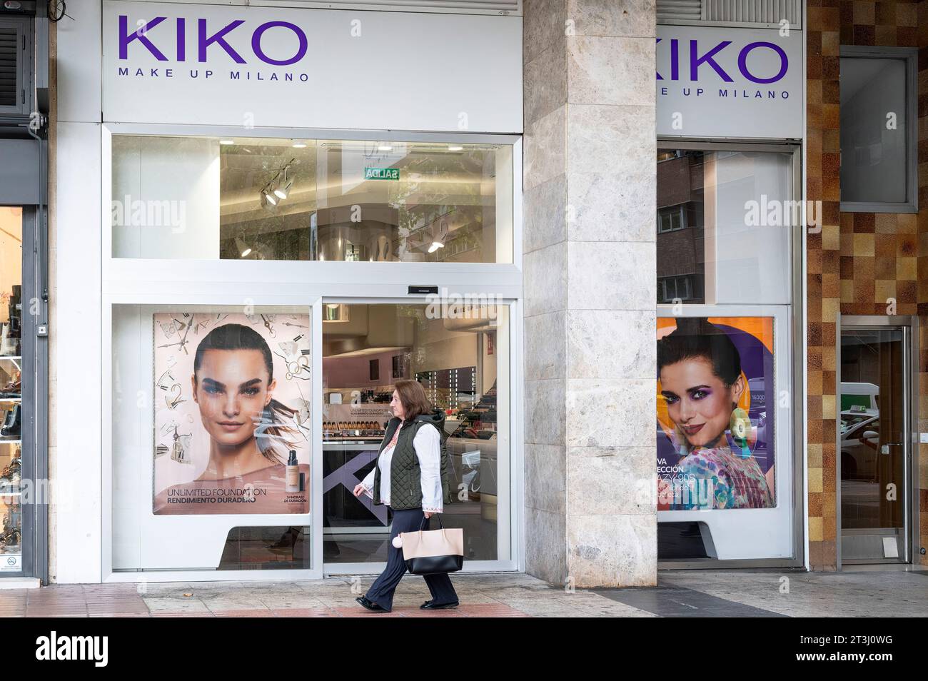
[(658, 26), (658, 135), (802, 137), (803, 34)]

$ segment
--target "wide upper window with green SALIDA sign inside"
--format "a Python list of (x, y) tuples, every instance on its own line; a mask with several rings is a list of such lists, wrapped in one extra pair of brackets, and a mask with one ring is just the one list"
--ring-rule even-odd
[(117, 258), (512, 262), (512, 147), (112, 140)]

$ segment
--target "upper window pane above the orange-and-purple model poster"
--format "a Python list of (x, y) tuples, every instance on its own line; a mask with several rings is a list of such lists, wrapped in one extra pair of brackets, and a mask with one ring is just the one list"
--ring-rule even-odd
[(662, 149), (657, 302), (790, 302), (792, 154)]

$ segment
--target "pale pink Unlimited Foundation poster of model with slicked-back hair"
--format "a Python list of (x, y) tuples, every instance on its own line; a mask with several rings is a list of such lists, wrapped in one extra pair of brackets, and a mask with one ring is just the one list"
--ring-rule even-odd
[(309, 512), (309, 325), (153, 315), (155, 515)]

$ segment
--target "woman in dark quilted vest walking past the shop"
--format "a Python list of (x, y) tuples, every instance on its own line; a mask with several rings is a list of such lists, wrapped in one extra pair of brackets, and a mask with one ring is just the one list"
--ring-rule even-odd
[[(432, 410), (425, 391), (415, 380), (396, 381), (390, 407), (393, 418), (380, 443), (377, 465), (354, 487), (354, 496), (366, 494), (374, 504), (393, 509), (387, 567), (365, 596), (355, 598), (367, 610), (378, 612), (393, 609), (393, 591), (406, 572), (403, 549), (393, 546), (393, 538), (399, 533), (418, 531), (423, 518), (441, 513), (445, 502), (450, 501), (442, 446), (445, 415), (440, 409)], [(420, 608), (458, 606), (458, 594), (447, 574), (427, 574), (425, 584), (432, 599)]]

